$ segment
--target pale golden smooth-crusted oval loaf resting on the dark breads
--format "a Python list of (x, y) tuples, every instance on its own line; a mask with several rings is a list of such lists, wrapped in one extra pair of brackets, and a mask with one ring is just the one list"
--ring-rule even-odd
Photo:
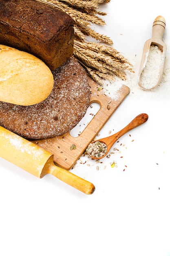
[(40, 103), (53, 83), (51, 70), (40, 59), (0, 45), (0, 101), (23, 106)]

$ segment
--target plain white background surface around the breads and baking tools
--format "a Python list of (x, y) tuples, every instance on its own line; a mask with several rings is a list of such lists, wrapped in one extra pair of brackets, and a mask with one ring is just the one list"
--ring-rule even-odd
[[(130, 94), (101, 130), (101, 137), (110, 130), (117, 132), (140, 113), (147, 113), (149, 119), (121, 137), (116, 143), (121, 153), (103, 159), (103, 164), (77, 161), (73, 172), (95, 185), (92, 195), (52, 175), (34, 177), (0, 158), (0, 255), (170, 256), (167, 4), (112, 0), (102, 5), (108, 13), (107, 25), (97, 31), (110, 36), (113, 47), (132, 60), (136, 73), (127, 81)], [(152, 37), (152, 23), (159, 15), (166, 19), (167, 75), (157, 89), (146, 92), (138, 87), (136, 76), (142, 47)], [(111, 168), (113, 160), (117, 168)]]

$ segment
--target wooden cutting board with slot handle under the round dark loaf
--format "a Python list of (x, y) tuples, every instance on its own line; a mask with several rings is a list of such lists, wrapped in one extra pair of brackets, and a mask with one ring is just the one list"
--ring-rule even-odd
[[(91, 87), (91, 100), (89, 106), (91, 106), (93, 102), (97, 102), (100, 109), (83, 132), (80, 135), (77, 135), (77, 137), (72, 137), (70, 132), (67, 132), (58, 137), (32, 141), (33, 143), (38, 144), (38, 146), (51, 152), (54, 155), (55, 164), (66, 170), (70, 170), (74, 166), (79, 157), (81, 157), (86, 150), (88, 144), (93, 141), (99, 131), (103, 128), (104, 124), (106, 124), (108, 119), (113, 115), (115, 110), (130, 92), (130, 89), (126, 85), (122, 85), (116, 92), (116, 99), (111, 99), (104, 94), (104, 90), (97, 91), (99, 86), (91, 78), (88, 78), (88, 82)], [(110, 106), (110, 109), (108, 109), (108, 105)], [(73, 144), (76, 148), (71, 150), (71, 145)]]

